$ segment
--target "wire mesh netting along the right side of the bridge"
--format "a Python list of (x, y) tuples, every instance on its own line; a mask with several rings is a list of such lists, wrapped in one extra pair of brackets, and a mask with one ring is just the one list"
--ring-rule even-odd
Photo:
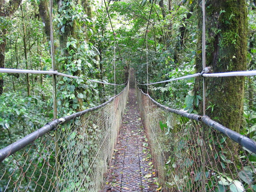
[(203, 122), (157, 106), (136, 88), (164, 191), (256, 191), (256, 154)]

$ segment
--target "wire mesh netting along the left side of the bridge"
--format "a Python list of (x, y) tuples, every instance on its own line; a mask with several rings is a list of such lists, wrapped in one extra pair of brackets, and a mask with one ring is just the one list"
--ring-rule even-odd
[(107, 105), (58, 125), (0, 163), (0, 191), (99, 191), (106, 179), (129, 83)]

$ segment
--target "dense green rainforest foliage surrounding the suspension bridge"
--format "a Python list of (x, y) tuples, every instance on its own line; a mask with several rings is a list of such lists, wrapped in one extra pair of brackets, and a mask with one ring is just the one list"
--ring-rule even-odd
[[(152, 2), (153, 1), (153, 2)], [(15, 1), (14, 1), (15, 2)], [(11, 1), (12, 3), (12, 1)], [(50, 30), (48, 1), (25, 0), (17, 5), (3, 3), (0, 8), (0, 62), (4, 68), (50, 70)], [(56, 0), (53, 9), (56, 68), (61, 73), (84, 79), (114, 83), (114, 46), (116, 47), (116, 83), (123, 84), (129, 68), (134, 68), (140, 84), (194, 74), (202, 57), (200, 48), (200, 1), (142, 0), (106, 2), (115, 33), (109, 23), (104, 1)], [(16, 7), (9, 14), (9, 7)], [(152, 12), (150, 11), (152, 9)], [(211, 10), (211, 6), (206, 9)], [(8, 12), (9, 11), (9, 12)], [(246, 69), (256, 68), (256, 4), (246, 1), (248, 23)], [(145, 33), (150, 14), (147, 39)], [(223, 22), (232, 22), (236, 13), (218, 12)], [(227, 11), (228, 12), (228, 11)], [(4, 13), (4, 11), (1, 11)], [(8, 13), (8, 14), (7, 14)], [(198, 16), (199, 15), (199, 16)], [(220, 34), (218, 28), (211, 28)], [(227, 34), (227, 41), (237, 45), (239, 34)], [(221, 38), (223, 35), (220, 35)], [(115, 38), (118, 47), (115, 45)], [(207, 36), (208, 38), (208, 36)], [(225, 37), (226, 38), (226, 37)], [(224, 37), (223, 37), (224, 39)], [(208, 49), (212, 39), (207, 39)], [(148, 49), (146, 49), (146, 44)], [(224, 40), (218, 46), (225, 46)], [(208, 55), (209, 56), (209, 55)], [(227, 56), (232, 62), (233, 58)], [(201, 65), (201, 63), (200, 63)], [(232, 69), (230, 69), (232, 70)], [(52, 76), (0, 74), (0, 148), (35, 131), (52, 116)], [(0, 85), (1, 85), (0, 82)], [(211, 84), (211, 83), (209, 83)], [(201, 114), (202, 92), (194, 78), (149, 86), (149, 94), (172, 108)], [(124, 86), (117, 86), (120, 92)], [(146, 92), (147, 86), (140, 86)], [(215, 87), (218, 90), (217, 87)], [(244, 118), (239, 132), (256, 138), (256, 81), (246, 77)], [(208, 90), (210, 97), (212, 90)], [(215, 91), (218, 95), (218, 91)], [(58, 117), (97, 106), (114, 95), (113, 85), (83, 79), (57, 77)], [(206, 102), (206, 112), (220, 120), (226, 111), (219, 103)], [(165, 122), (166, 123), (166, 122)], [(22, 131), (21, 131), (22, 130)], [(167, 133), (168, 134), (168, 133)]]

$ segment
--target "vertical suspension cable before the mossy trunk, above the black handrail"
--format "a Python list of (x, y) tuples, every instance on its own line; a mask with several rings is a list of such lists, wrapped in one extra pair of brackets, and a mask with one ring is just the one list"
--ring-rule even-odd
[[(202, 0), (203, 33), (202, 33), (202, 64), (205, 68), (205, 0)], [(203, 115), (205, 115), (205, 78), (203, 77)]]

